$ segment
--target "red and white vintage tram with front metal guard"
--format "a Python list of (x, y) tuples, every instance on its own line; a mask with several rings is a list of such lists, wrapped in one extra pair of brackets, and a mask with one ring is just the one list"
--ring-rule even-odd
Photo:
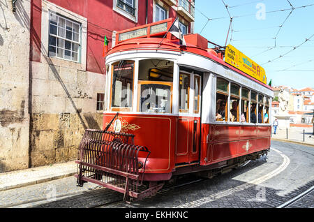
[(269, 151), (271, 87), (198, 34), (179, 45), (172, 22), (117, 33), (106, 57), (105, 130), (82, 139), (79, 185), (144, 198), (176, 175), (211, 177)]

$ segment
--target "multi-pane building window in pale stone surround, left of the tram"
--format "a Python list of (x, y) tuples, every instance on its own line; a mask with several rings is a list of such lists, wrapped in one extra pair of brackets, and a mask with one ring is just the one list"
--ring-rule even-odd
[(49, 24), (49, 57), (79, 61), (81, 24), (57, 13), (50, 13)]

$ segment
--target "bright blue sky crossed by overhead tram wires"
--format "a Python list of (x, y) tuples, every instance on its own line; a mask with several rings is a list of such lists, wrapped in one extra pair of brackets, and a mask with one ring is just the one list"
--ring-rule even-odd
[(314, 88), (314, 0), (196, 0), (194, 32), (218, 45), (230, 25), (224, 3), (233, 17), (227, 44), (262, 66), (267, 84)]

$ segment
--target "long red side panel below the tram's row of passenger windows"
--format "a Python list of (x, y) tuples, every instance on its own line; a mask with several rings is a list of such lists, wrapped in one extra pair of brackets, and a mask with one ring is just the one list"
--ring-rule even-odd
[(200, 165), (269, 149), (271, 126), (202, 124)]

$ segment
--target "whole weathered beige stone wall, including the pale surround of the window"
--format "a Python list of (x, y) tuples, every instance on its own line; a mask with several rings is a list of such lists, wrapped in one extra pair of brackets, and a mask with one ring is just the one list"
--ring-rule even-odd
[[(85, 128), (103, 128), (105, 75), (86, 69), (87, 19), (43, 1), (40, 54), (30, 61), (31, 0), (15, 7), (0, 0), (0, 172), (74, 160)], [(48, 10), (82, 24), (79, 63), (47, 56)]]

